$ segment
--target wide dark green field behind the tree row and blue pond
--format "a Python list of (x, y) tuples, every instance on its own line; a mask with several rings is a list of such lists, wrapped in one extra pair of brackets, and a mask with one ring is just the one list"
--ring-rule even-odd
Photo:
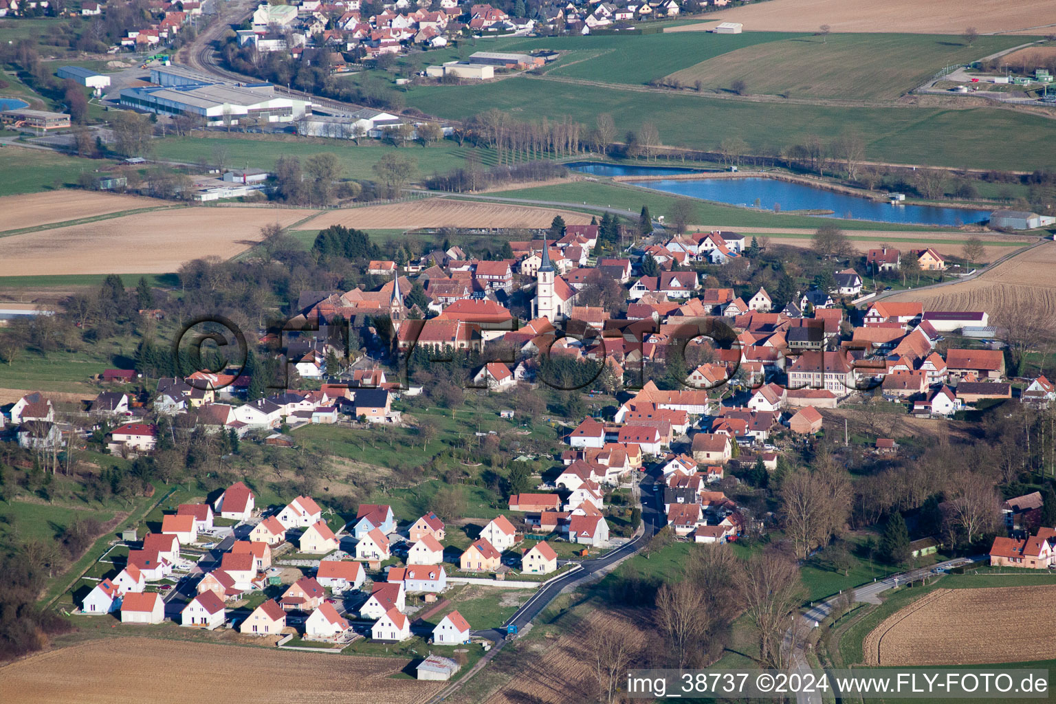
[(776, 151), (812, 134), (829, 140), (854, 126), (866, 135), (866, 157), (873, 160), (1025, 170), (1046, 167), (1051, 160), (1049, 120), (988, 108), (752, 102), (701, 97), (692, 92), (603, 88), (526, 77), (480, 85), (418, 88), (408, 94), (408, 102), (427, 113), (454, 119), (498, 108), (521, 120), (567, 115), (585, 126), (592, 126), (598, 113), (608, 112), (620, 134), (652, 121), (663, 144), (695, 149), (715, 149), (723, 139), (738, 136), (752, 151)]

